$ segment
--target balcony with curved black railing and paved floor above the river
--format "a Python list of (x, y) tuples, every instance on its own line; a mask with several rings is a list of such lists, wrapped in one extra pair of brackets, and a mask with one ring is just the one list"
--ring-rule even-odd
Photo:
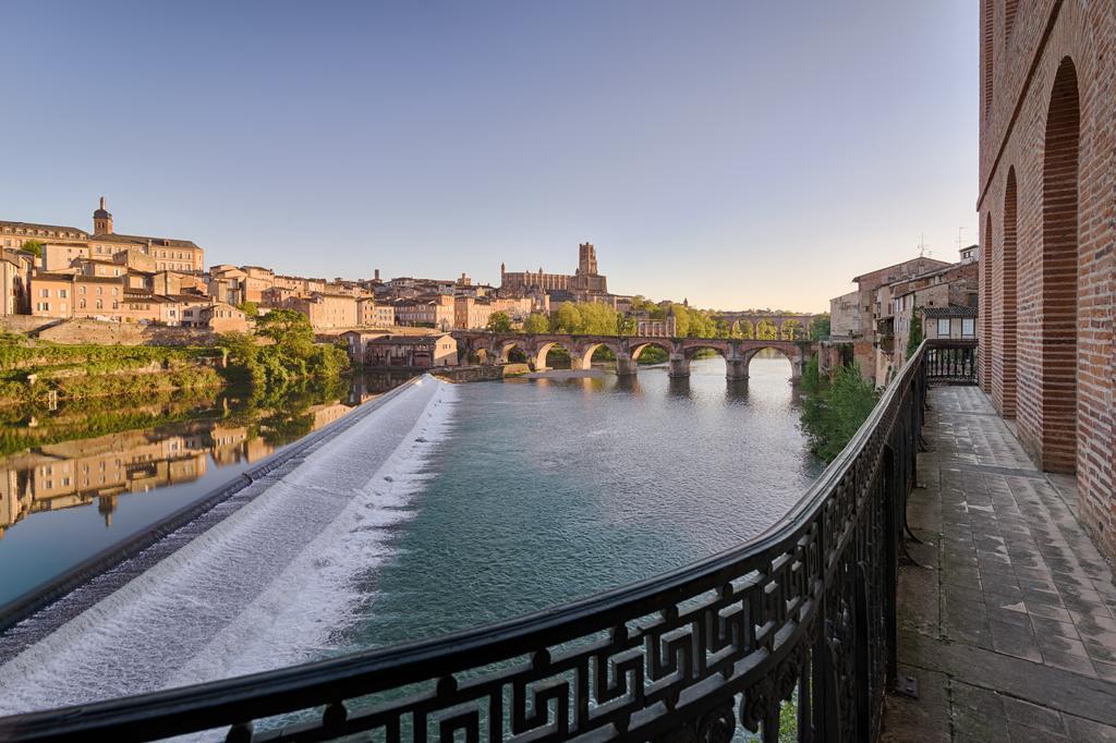
[(1112, 575), (975, 360), (926, 341), (781, 521), (699, 563), (448, 637), (3, 718), (0, 739), (1116, 732)]

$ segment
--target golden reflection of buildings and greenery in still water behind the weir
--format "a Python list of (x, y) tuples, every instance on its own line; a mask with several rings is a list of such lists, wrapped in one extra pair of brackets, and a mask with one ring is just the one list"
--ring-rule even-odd
[[(357, 376), (347, 388), (339, 384), (273, 399), (222, 393), (10, 414), (0, 436), (9, 448), (26, 447), (0, 459), (0, 538), (36, 513), (95, 501), (105, 527), (112, 527), (119, 495), (194, 482), (211, 466), (258, 462), (410, 376)], [(146, 425), (128, 428), (137, 421)], [(126, 430), (90, 435), (114, 428)]]

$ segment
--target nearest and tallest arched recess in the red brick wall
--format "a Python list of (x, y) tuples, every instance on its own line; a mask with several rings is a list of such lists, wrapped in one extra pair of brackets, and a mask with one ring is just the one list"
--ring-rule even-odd
[(1077, 464), (1078, 149), (1081, 110), (1077, 69), (1058, 67), (1042, 158), (1042, 469)]

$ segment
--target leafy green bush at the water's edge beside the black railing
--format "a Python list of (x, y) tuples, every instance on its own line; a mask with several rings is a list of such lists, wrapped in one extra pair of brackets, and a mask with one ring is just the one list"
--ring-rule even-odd
[(834, 461), (876, 406), (875, 386), (856, 366), (841, 366), (833, 379), (818, 372), (818, 357), (807, 361), (800, 383), (801, 425), (810, 448), (826, 462)]

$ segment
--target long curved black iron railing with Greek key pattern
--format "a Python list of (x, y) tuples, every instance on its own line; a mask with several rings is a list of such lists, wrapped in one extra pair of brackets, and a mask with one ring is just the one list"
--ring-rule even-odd
[[(729, 741), (743, 725), (771, 742), (782, 725), (800, 741), (870, 740), (896, 678), (929, 350), (802, 500), (739, 548), (448, 637), (2, 718), (0, 739)], [(947, 350), (935, 344), (935, 364)]]

